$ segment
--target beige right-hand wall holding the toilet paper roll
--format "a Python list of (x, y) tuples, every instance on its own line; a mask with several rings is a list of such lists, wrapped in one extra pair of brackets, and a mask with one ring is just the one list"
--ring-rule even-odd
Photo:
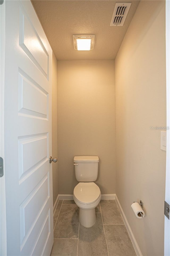
[[(145, 18), (145, 19), (144, 19)], [(165, 2), (141, 1), (115, 60), (116, 194), (143, 255), (164, 255)], [(144, 203), (137, 219), (133, 201)]]

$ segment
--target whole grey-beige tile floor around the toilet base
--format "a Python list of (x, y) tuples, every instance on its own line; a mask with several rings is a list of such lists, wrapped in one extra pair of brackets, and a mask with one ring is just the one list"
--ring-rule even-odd
[(115, 200), (101, 200), (95, 211), (96, 223), (87, 229), (74, 200), (59, 200), (51, 256), (136, 256)]

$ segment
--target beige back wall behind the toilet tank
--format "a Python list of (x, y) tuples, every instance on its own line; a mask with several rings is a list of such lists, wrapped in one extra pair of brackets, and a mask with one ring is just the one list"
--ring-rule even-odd
[(115, 193), (114, 61), (58, 61), (59, 193), (73, 194), (75, 155), (98, 155), (96, 184)]

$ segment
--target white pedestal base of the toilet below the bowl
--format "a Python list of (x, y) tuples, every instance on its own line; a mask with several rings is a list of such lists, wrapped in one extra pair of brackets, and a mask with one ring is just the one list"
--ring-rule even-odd
[(84, 210), (79, 208), (79, 222), (83, 227), (92, 227), (96, 223), (95, 208), (90, 210)]

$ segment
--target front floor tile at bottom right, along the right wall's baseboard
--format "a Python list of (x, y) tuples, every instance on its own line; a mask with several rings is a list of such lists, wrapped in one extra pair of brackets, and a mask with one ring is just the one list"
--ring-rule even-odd
[(104, 225), (109, 256), (136, 256), (125, 225)]

